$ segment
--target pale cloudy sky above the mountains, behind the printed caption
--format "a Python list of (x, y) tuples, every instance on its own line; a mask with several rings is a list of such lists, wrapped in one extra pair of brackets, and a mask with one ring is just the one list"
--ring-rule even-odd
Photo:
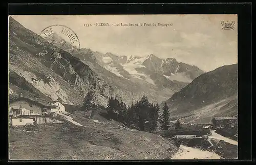
[[(72, 29), (80, 48), (117, 56), (176, 58), (208, 72), (238, 63), (237, 15), (12, 15), (40, 34), (51, 25)], [(222, 30), (221, 21), (234, 21)], [(92, 26), (86, 27), (85, 23)], [(172, 23), (172, 26), (94, 26), (96, 23)]]

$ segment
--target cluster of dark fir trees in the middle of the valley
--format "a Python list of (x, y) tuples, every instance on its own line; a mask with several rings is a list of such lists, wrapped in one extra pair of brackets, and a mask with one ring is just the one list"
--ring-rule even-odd
[[(156, 132), (160, 124), (160, 129), (169, 129), (169, 108), (165, 103), (163, 113), (160, 115), (160, 106), (150, 103), (146, 96), (143, 96), (140, 101), (135, 104), (126, 106), (123, 101), (116, 98), (109, 98), (108, 107), (95, 105), (94, 92), (89, 91), (84, 98), (82, 110), (96, 110), (97, 108), (107, 111), (110, 119), (116, 120), (125, 124), (127, 127), (137, 128), (140, 131)], [(159, 124), (158, 124), (159, 123)]]

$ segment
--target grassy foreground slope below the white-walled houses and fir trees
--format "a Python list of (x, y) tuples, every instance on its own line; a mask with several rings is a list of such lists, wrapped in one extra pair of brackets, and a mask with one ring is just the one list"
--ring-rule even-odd
[(10, 128), (10, 159), (170, 159), (178, 151), (156, 134), (72, 117), (84, 127), (64, 121), (39, 125), (36, 132)]

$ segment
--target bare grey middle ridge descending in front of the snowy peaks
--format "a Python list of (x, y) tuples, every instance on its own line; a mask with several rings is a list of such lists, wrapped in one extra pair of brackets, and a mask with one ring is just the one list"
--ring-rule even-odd
[[(127, 79), (121, 75), (117, 75), (105, 68), (101, 62), (98, 52), (93, 52), (90, 49), (81, 49), (78, 53), (73, 54), (79, 58), (83, 63), (90, 66), (90, 68), (97, 73), (98, 77), (113, 87), (115, 96), (122, 99), (125, 103), (131, 104), (142, 98), (143, 95), (148, 96), (151, 102), (161, 102), (172, 96), (177, 91), (175, 89), (158, 90), (156, 86), (151, 83), (147, 83), (140, 79)], [(103, 56), (104, 57), (104, 56)], [(105, 60), (105, 59), (104, 59)], [(105, 60), (106, 61), (106, 60)], [(109, 63), (112, 63), (110, 60)]]

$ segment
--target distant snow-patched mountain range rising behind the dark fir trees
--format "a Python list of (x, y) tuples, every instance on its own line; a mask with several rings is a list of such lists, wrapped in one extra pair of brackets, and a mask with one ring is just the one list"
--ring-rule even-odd
[[(162, 63), (162, 60), (154, 55), (130, 56), (128, 58), (111, 53), (93, 52), (90, 49), (80, 49), (79, 52), (72, 55), (89, 65), (102, 80), (116, 87), (116, 90), (121, 92), (118, 92), (117, 95), (120, 98), (123, 97), (123, 100), (129, 104), (133, 100), (139, 100), (143, 95), (148, 96), (152, 102), (161, 102), (191, 81), (191, 78), (187, 77), (184, 72), (178, 73), (177, 68), (175, 68), (176, 75), (173, 74), (169, 77), (163, 74), (162, 69), (161, 72), (158, 72), (157, 69), (150, 69), (151, 66), (147, 63), (156, 63), (159, 66)], [(200, 75), (201, 73), (203, 71), (199, 69), (196, 74)]]

